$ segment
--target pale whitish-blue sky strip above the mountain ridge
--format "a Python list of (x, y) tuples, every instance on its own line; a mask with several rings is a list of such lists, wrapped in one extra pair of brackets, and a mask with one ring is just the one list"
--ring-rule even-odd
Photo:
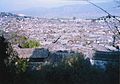
[[(94, 3), (113, 0), (91, 0)], [(87, 4), (84, 0), (0, 0), (0, 11), (23, 10), (32, 7), (57, 7), (71, 4)]]

